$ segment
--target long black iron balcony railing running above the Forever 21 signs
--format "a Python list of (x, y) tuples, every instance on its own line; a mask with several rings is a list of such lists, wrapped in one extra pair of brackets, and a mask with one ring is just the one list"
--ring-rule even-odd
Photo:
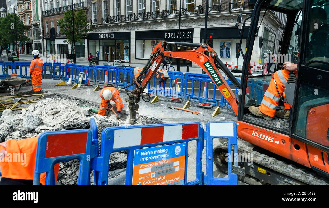
[[(182, 8), (181, 15), (197, 15), (203, 13), (203, 7), (200, 5), (198, 7)], [(136, 20), (148, 20), (148, 19), (160, 19), (166, 17), (177, 17), (179, 16), (179, 9), (172, 10), (162, 10), (156, 12), (146, 12), (138, 14), (127, 14), (127, 15), (118, 15), (110, 16), (101, 19), (101, 23), (114, 23), (114, 22), (126, 22), (126, 21), (136, 21)], [(97, 24), (97, 21), (90, 21), (90, 24)]]

